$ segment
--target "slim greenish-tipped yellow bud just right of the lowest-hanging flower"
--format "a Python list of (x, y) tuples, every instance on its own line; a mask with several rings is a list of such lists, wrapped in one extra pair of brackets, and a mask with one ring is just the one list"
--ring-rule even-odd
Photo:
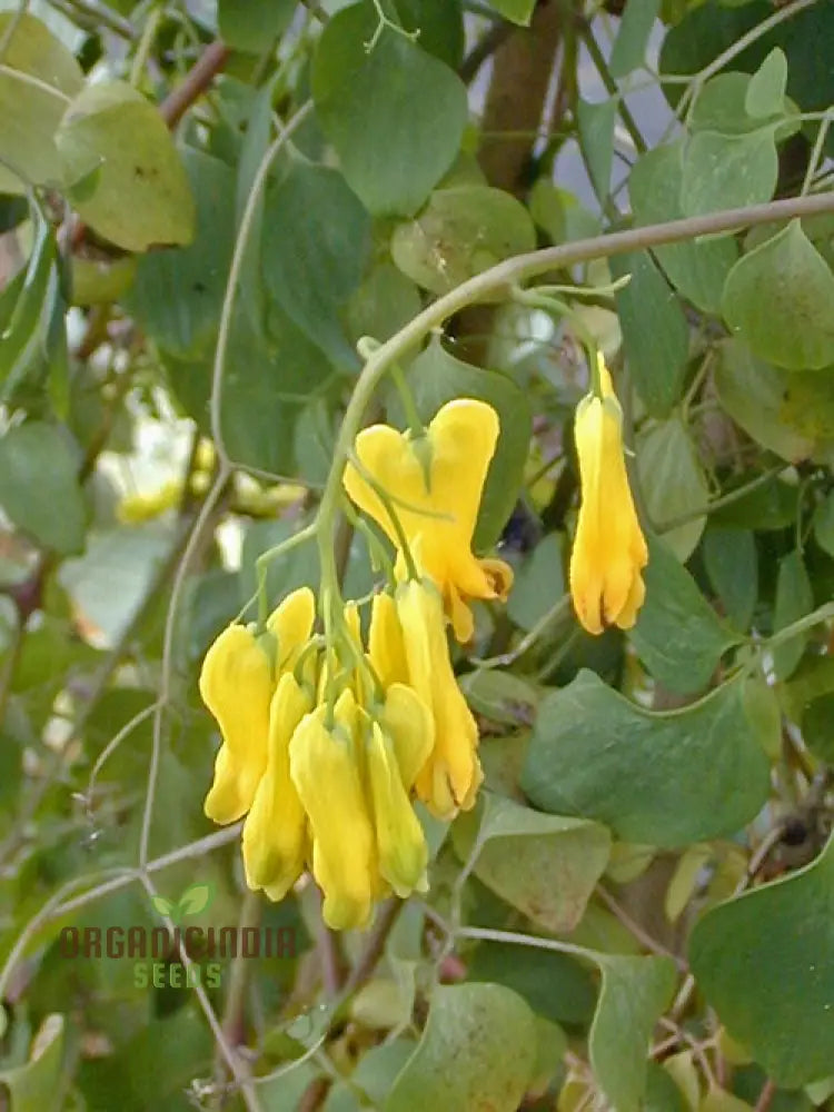
[(428, 888), (428, 846), (408, 802), (391, 739), (376, 722), (370, 728), (367, 758), (379, 872), (404, 900), (415, 890)]

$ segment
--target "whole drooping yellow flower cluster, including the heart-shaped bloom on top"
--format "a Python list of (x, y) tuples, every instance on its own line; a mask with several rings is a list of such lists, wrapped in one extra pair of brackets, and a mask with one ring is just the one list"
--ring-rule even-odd
[(335, 929), (367, 925), (389, 891), (425, 891), (415, 801), (449, 820), (473, 806), (483, 778), (444, 609), (468, 637), (466, 600), (502, 597), (510, 583), (506, 565), (470, 547), (497, 436), (495, 411), (469, 399), (444, 406), (419, 439), (387, 426), (361, 433), (345, 487), (398, 547), (396, 583), (373, 598), (367, 637), (356, 604), (327, 609), (327, 636), (316, 636), (304, 587), (262, 631), (227, 627), (203, 661), (200, 694), (222, 734), (206, 814), (245, 816), (250, 888), (280, 900), (309, 866)]

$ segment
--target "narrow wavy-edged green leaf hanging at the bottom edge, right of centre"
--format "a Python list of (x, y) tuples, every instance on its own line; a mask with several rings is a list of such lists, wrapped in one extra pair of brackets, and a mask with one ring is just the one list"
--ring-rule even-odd
[(648, 1043), (672, 1001), (675, 965), (668, 957), (595, 960), (603, 984), (589, 1037), (594, 1076), (617, 1112), (643, 1112)]

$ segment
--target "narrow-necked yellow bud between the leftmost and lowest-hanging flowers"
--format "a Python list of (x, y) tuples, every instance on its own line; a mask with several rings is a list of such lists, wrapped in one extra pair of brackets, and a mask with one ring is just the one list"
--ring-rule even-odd
[(289, 742), (312, 699), (285, 672), (269, 705), (267, 767), (244, 824), (246, 883), (282, 900), (305, 866), (307, 820), (289, 775)]

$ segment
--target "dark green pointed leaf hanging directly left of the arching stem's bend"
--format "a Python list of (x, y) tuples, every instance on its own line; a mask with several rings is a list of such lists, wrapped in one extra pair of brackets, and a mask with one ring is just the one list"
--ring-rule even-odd
[(267, 289), (309, 340), (347, 368), (358, 368), (358, 359), (338, 310), (361, 280), (369, 247), (368, 214), (337, 170), (297, 160), (268, 195)]

